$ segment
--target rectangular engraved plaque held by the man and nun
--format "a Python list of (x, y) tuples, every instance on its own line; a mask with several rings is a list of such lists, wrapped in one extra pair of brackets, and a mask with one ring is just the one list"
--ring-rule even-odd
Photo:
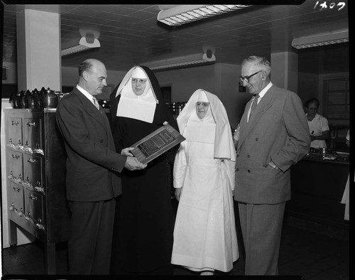
[(165, 124), (133, 144), (134, 149), (131, 153), (136, 156), (138, 161), (145, 164), (153, 161), (154, 158), (157, 158), (184, 140), (184, 136), (176, 131), (173, 126)]

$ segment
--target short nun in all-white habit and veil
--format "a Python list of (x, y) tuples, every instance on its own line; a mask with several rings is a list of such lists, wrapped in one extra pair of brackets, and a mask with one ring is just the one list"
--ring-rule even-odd
[(233, 190), (236, 152), (231, 127), (216, 95), (196, 90), (178, 117), (185, 141), (175, 156), (179, 200), (172, 264), (213, 274), (239, 258)]

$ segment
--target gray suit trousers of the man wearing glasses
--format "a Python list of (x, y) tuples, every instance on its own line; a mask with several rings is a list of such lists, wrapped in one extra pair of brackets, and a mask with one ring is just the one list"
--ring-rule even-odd
[(246, 251), (245, 275), (278, 275), (278, 255), (286, 203), (238, 203)]

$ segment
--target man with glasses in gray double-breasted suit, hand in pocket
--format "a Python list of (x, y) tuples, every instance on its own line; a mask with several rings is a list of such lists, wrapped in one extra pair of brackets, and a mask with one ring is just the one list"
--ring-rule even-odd
[(246, 275), (278, 275), (283, 214), (290, 200), (290, 167), (310, 149), (300, 97), (273, 85), (270, 72), (265, 58), (251, 56), (241, 64), (240, 80), (253, 95), (240, 122), (234, 193)]

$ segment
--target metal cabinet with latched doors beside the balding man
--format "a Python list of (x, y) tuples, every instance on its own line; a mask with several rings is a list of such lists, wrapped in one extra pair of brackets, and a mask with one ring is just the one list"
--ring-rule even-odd
[(65, 147), (55, 109), (4, 109), (9, 237), (16, 228), (45, 244), (45, 268), (55, 274), (55, 244), (67, 241)]

